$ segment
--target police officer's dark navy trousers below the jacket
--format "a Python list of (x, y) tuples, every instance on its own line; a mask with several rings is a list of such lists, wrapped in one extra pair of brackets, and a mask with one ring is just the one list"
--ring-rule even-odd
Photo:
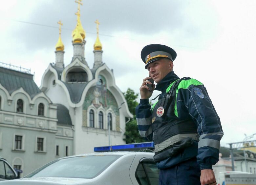
[(159, 185), (201, 185), (200, 175), (200, 167), (194, 158), (160, 170)]

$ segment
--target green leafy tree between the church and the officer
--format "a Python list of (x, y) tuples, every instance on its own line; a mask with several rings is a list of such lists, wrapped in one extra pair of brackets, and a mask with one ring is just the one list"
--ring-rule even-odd
[(126, 123), (125, 126), (125, 141), (126, 143), (140, 143), (145, 142), (145, 140), (139, 135), (136, 115), (135, 115), (135, 108), (139, 104), (136, 99), (139, 96), (139, 93), (135, 93), (132, 89), (128, 88), (124, 94), (126, 102), (128, 104), (129, 111), (134, 115), (134, 117)]

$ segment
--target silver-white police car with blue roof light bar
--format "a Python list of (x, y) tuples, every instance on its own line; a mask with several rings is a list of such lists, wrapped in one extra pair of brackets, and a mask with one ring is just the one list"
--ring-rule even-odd
[(138, 149), (154, 149), (154, 142), (95, 147), (94, 151), (100, 153), (63, 157), (0, 185), (158, 184), (154, 153), (132, 152)]

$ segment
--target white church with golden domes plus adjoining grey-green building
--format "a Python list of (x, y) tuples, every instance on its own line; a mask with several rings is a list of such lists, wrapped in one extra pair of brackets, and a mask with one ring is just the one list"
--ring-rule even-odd
[(112, 70), (102, 61), (98, 21), (94, 65), (88, 67), (81, 0), (76, 3), (74, 54), (69, 65), (64, 66), (59, 21), (55, 63), (45, 70), (39, 88), (32, 74), (0, 66), (0, 156), (23, 170), (22, 176), (59, 157), (125, 144), (126, 120), (133, 115)]

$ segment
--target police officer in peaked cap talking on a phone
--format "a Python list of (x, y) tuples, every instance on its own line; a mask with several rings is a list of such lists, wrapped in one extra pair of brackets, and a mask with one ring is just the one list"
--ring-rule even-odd
[[(159, 184), (216, 185), (212, 165), (219, 160), (220, 118), (200, 81), (180, 79), (173, 72), (176, 56), (172, 48), (160, 44), (147, 45), (141, 51), (150, 77), (144, 78), (139, 88), (139, 134), (155, 142)], [(151, 107), (149, 98), (154, 90), (161, 94)]]

